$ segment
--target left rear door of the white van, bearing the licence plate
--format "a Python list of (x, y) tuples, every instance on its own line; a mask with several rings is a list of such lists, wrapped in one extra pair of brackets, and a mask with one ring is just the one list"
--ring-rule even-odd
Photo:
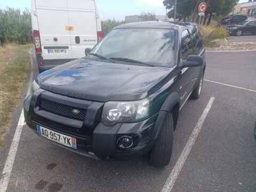
[(43, 59), (72, 59), (67, 0), (36, 0)]

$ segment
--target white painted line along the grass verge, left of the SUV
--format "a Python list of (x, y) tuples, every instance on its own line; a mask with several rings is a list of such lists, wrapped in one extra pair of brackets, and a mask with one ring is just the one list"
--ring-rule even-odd
[[(28, 90), (27, 90), (27, 94), (26, 94), (27, 96), (30, 93), (33, 73), (34, 73), (33, 60), (31, 59), (31, 73), (30, 73), (30, 77), (29, 77)], [(19, 145), (19, 141), (20, 141), (22, 127), (24, 124), (25, 124), (25, 118), (24, 118), (23, 109), (22, 109), (21, 114), (20, 114), (20, 119), (19, 119), (18, 125), (16, 127), (16, 131), (14, 133), (14, 137), (12, 140), (12, 145), (10, 147), (9, 154), (8, 154), (5, 164), (4, 164), (4, 169), (2, 172), (2, 179), (0, 180), (0, 192), (5, 192), (7, 189), (9, 179), (11, 176), (11, 172), (12, 172), (13, 162), (14, 162), (14, 159), (15, 159), (15, 156), (17, 153), (17, 149), (18, 149), (18, 145)]]

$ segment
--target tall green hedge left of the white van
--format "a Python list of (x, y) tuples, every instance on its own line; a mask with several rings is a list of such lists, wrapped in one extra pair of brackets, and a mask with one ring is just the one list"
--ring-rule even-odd
[(33, 39), (30, 29), (31, 17), (28, 10), (21, 12), (19, 9), (0, 9), (0, 44), (31, 43)]

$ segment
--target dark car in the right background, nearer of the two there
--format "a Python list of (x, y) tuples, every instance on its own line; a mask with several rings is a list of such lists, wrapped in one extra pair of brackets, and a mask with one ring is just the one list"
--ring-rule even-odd
[(256, 20), (245, 20), (238, 25), (227, 27), (229, 35), (256, 34)]

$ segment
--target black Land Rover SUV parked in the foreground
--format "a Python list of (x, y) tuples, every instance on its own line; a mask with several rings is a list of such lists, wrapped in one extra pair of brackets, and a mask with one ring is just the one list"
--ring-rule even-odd
[(87, 156), (170, 162), (179, 111), (198, 99), (205, 49), (187, 22), (139, 22), (110, 31), (83, 59), (39, 74), (24, 102), (38, 135)]

